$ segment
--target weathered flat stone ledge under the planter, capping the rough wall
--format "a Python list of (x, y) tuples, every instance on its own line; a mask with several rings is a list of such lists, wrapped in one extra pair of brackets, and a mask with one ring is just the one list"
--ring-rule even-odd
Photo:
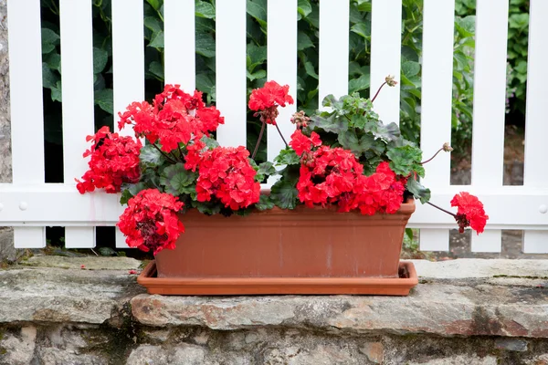
[(162, 297), (129, 274), (137, 260), (35, 256), (0, 271), (0, 323), (119, 327), (131, 308), (134, 323), (156, 328), (548, 338), (548, 260), (414, 263), (409, 297)]

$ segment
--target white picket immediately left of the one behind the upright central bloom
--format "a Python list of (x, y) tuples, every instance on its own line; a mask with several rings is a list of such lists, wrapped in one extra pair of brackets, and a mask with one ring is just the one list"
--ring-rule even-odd
[(225, 124), (216, 140), (222, 146), (246, 146), (246, 35), (246, 0), (217, 0), (216, 107)]

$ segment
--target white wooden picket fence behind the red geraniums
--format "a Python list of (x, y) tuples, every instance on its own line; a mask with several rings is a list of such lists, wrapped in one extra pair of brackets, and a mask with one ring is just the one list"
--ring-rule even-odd
[[(527, 128), (523, 186), (503, 186), (504, 108), (508, 0), (478, 0), (474, 80), (472, 185), (449, 184), (449, 156), (427, 165), (424, 182), (432, 202), (448, 207), (454, 193), (469, 191), (485, 203), (490, 221), (472, 235), (472, 250), (501, 251), (501, 230), (525, 230), (524, 251), (548, 252), (548, 1), (531, 1)], [(63, 65), (63, 143), (66, 183), (44, 183), (44, 128), (40, 1), (9, 0), (9, 56), (13, 183), (0, 184), (0, 225), (15, 226), (17, 247), (43, 247), (45, 226), (65, 226), (67, 247), (93, 247), (94, 227), (114, 225), (122, 212), (118, 196), (80, 195), (72, 177), (87, 170), (81, 154), (93, 133), (91, 0), (60, 0)], [(401, 0), (373, 0), (372, 89), (388, 74), (399, 75)], [(453, 24), (452, 0), (424, 0), (421, 141), (428, 156), (450, 141)], [(195, 87), (195, 0), (164, 0), (165, 80)], [(141, 0), (112, 0), (114, 110), (144, 99)], [(320, 0), (320, 98), (348, 91), (349, 5)], [(297, 0), (268, 3), (268, 78), (297, 89)], [(184, 36), (182, 36), (184, 35)], [(223, 145), (246, 144), (246, 0), (216, 0), (216, 99), (226, 117), (218, 130)], [(375, 101), (385, 122), (399, 118), (399, 87)], [(288, 121), (295, 106), (280, 110)], [(289, 138), (293, 127), (280, 122)], [(124, 130), (129, 133), (129, 130)], [(269, 133), (268, 156), (281, 148)], [(417, 206), (409, 226), (420, 228), (422, 250), (448, 250), (456, 224), (430, 206)], [(117, 235), (117, 245), (124, 247)]]

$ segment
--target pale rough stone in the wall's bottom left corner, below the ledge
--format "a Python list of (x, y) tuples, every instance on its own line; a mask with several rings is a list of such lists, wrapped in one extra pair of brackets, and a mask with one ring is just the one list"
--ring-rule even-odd
[(26, 365), (34, 356), (37, 328), (21, 328), (18, 336), (5, 334), (0, 336), (0, 364)]

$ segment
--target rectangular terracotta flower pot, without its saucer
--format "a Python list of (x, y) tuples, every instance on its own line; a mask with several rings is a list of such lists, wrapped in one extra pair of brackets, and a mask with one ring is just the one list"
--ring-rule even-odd
[(248, 216), (181, 215), (185, 233), (156, 255), (158, 278), (398, 278), (414, 200), (395, 214), (336, 207), (274, 208)]

